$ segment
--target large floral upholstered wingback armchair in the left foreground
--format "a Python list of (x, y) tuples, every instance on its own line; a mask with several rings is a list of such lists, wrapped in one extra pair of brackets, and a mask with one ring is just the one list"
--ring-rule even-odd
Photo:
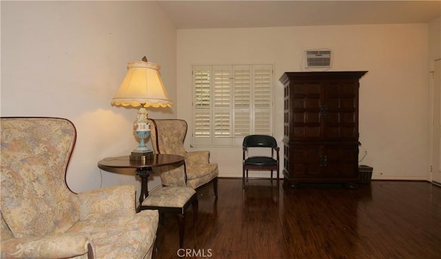
[(136, 214), (135, 187), (75, 194), (76, 141), (63, 118), (1, 118), (0, 258), (150, 258), (158, 211)]

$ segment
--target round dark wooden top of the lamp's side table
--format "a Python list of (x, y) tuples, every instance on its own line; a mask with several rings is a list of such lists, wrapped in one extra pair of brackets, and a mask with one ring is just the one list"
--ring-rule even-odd
[(114, 156), (100, 160), (98, 167), (101, 169), (161, 167), (181, 163), (184, 159), (183, 156), (173, 154), (154, 154), (152, 158), (147, 160), (130, 160), (130, 156)]

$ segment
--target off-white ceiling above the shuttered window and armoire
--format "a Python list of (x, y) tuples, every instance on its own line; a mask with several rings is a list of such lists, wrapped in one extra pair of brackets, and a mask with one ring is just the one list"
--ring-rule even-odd
[(427, 23), (438, 1), (157, 1), (178, 29)]

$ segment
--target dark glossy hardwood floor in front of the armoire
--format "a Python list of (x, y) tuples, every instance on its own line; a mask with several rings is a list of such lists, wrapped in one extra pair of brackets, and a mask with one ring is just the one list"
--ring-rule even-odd
[[(220, 178), (187, 210), (185, 250), (175, 215), (158, 228), (156, 259), (441, 258), (441, 187), (377, 181), (358, 189), (276, 189), (269, 180)], [(186, 255), (186, 256), (185, 256)]]

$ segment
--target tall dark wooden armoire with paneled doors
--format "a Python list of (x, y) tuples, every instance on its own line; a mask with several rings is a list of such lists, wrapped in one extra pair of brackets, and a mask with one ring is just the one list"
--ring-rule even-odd
[(367, 71), (285, 72), (284, 185), (358, 182), (358, 87)]

